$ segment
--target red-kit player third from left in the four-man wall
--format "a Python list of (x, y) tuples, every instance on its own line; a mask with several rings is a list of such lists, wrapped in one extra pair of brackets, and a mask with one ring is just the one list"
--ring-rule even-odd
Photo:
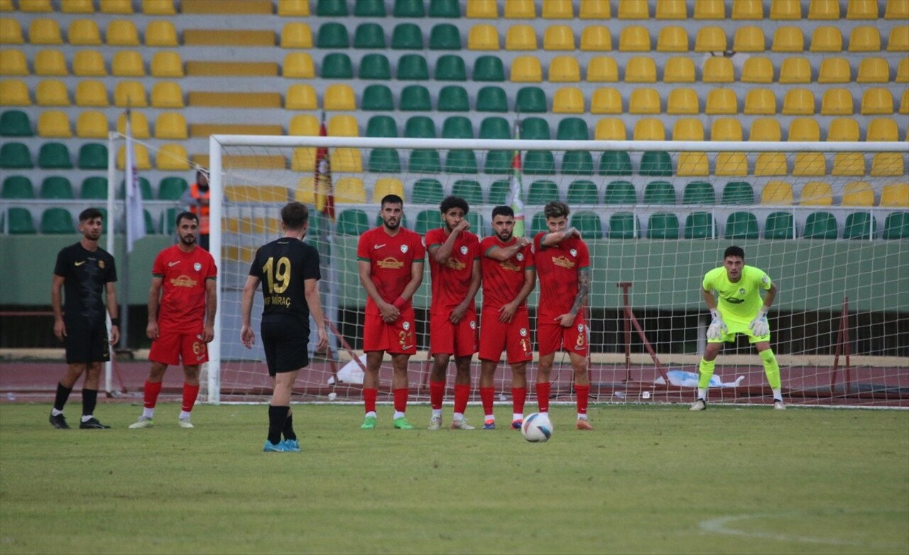
[(480, 335), (480, 401), (484, 430), (495, 429), (495, 368), (505, 351), (512, 370), (512, 428), (524, 422), (527, 362), (534, 358), (527, 295), (534, 291), (534, 252), (526, 237), (514, 237), (514, 210), (493, 209), (494, 235), (480, 243), (483, 269), (483, 333)]

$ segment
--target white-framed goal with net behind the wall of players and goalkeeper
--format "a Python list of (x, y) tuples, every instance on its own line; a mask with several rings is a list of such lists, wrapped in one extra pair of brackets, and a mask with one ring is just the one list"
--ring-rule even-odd
[[(533, 120), (522, 122), (522, 136), (532, 134), (530, 124), (540, 124)], [(247, 350), (239, 340), (240, 301), (255, 250), (280, 235), (279, 210), (290, 200), (312, 208), (305, 241), (321, 255), (331, 329), (330, 352), (314, 354), (296, 383), (295, 400), (328, 401), (335, 393), (336, 401), (360, 401), (365, 292), (356, 244), (379, 223), (379, 199), (398, 193), (405, 199), (405, 227), (421, 234), (441, 225), (439, 203), (448, 194), (467, 200), (471, 231), (481, 237), (492, 233), (495, 205), (523, 205), (528, 236), (544, 229), (544, 203), (559, 199), (571, 206), (570, 223), (592, 258), (586, 307), (592, 401), (694, 398), (709, 323), (701, 282), (722, 265), (724, 249), (737, 244), (745, 262), (763, 269), (779, 289), (770, 322), (786, 401), (909, 404), (903, 143), (219, 135), (211, 139), (210, 154), (212, 217), (220, 222), (213, 224), (211, 246), (220, 299), (207, 401), (269, 398), (261, 344)], [(520, 194), (513, 198), (515, 185)], [(332, 195), (334, 219), (317, 209), (322, 193)], [(415, 401), (427, 401), (429, 393), (430, 291), (426, 264), (415, 295), (420, 351), (409, 372)], [(478, 309), (481, 298), (482, 289)], [(536, 302), (534, 292), (528, 300), (532, 327)], [(258, 334), (261, 293), (253, 312)], [(391, 400), (391, 373), (386, 362), (380, 401)], [(475, 357), (473, 375), (478, 401)], [(530, 383), (535, 375), (534, 362)], [(554, 401), (573, 400), (572, 379), (567, 356), (557, 354)], [(453, 384), (452, 366), (447, 401)], [(497, 400), (510, 401), (504, 362), (495, 387)], [(530, 392), (533, 397), (533, 387)], [(727, 343), (717, 359), (711, 401), (764, 403), (770, 393), (746, 338)]]

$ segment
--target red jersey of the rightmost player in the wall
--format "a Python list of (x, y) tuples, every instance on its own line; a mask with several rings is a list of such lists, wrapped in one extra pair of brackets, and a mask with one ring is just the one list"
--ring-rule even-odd
[(571, 311), (577, 296), (577, 274), (590, 268), (590, 253), (584, 241), (577, 237), (542, 248), (544, 234), (537, 233), (534, 237), (536, 274), (540, 277), (537, 318), (555, 318)]

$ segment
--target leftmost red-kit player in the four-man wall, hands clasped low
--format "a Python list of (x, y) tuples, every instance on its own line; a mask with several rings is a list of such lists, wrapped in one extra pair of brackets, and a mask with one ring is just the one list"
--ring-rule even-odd
[(407, 421), (407, 363), (416, 353), (415, 314), (411, 298), (423, 282), (426, 254), (423, 238), (401, 227), (404, 200), (386, 194), (379, 204), (382, 225), (360, 235), (356, 248), (360, 283), (366, 291), (363, 351), (366, 372), (363, 401), (366, 416), (360, 426), (375, 429), (375, 398), (379, 391), (379, 368), (385, 352), (392, 357), (395, 394), (395, 428), (413, 430)]

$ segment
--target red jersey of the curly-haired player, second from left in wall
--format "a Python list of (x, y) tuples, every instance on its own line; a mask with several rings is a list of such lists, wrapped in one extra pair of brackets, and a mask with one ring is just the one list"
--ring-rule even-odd
[[(438, 227), (426, 233), (426, 250), (441, 247), (448, 240), (445, 229)], [(451, 312), (464, 302), (474, 273), (474, 262), (480, 258), (480, 240), (474, 233), (461, 232), (454, 240), (448, 262), (440, 264), (429, 255), (429, 271), (433, 278), (433, 301), (430, 312)]]

